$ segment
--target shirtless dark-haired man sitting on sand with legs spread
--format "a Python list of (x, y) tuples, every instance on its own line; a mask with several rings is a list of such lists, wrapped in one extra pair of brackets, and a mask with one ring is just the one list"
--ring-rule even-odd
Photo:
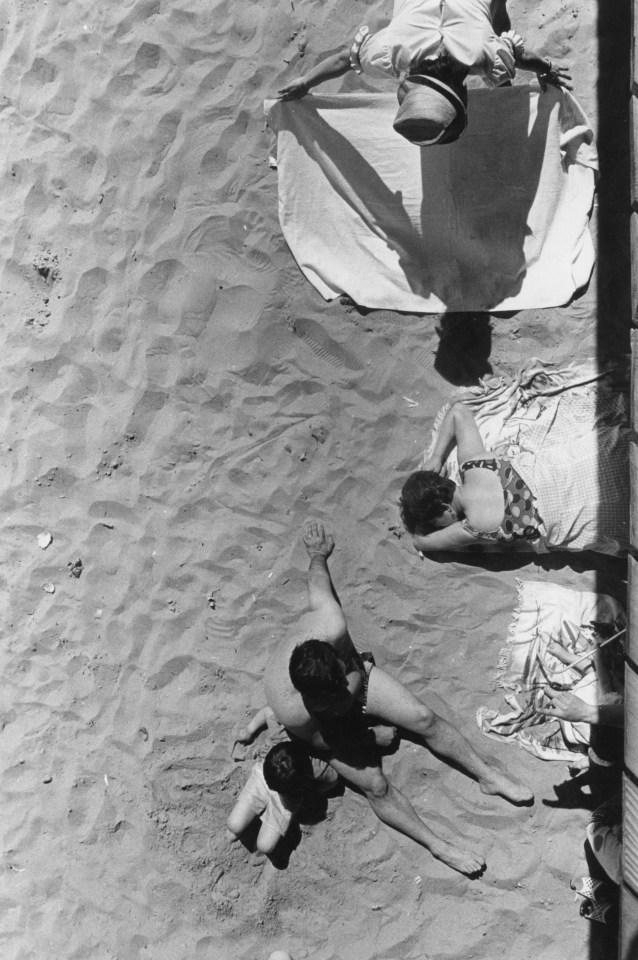
[[(306, 524), (303, 541), (310, 557), (309, 610), (295, 636), (282, 641), (266, 670), (266, 699), (291, 737), (310, 744), (345, 781), (359, 789), (384, 823), (424, 846), (438, 860), (468, 876), (485, 869), (482, 856), (443, 840), (419, 818), (385, 777), (378, 746), (389, 745), (399, 727), (416, 734), (436, 754), (460, 765), (486, 794), (515, 804), (532, 793), (490, 768), (452, 724), (371, 662), (365, 662), (348, 634), (336, 597), (328, 557), (334, 540), (323, 525)], [(373, 726), (374, 721), (381, 726)], [(386, 726), (383, 726), (386, 725)]]

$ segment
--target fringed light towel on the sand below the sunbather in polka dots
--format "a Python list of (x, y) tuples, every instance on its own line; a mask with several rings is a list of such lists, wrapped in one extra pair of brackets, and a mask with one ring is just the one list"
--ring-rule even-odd
[[(575, 668), (565, 671), (565, 664), (550, 644), (558, 644), (566, 654), (580, 655), (603, 634), (625, 628), (624, 610), (606, 594), (569, 590), (554, 583), (519, 582), (518, 590), (518, 607), (496, 677), (498, 685), (507, 691), (505, 700), (510, 709), (499, 712), (480, 707), (478, 725), (486, 736), (516, 742), (543, 760), (573, 761), (580, 757), (586, 763), (590, 725), (557, 721), (540, 713), (539, 708), (549, 702), (545, 696), (547, 683), (559, 682), (588, 703), (618, 702), (622, 695), (607, 690), (593, 671), (584, 676)], [(612, 643), (621, 649), (619, 641)], [(610, 675), (619, 686), (619, 677), (612, 672)]]

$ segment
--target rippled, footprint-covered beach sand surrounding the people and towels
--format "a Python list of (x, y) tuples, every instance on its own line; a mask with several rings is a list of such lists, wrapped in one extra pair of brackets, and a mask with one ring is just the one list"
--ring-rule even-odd
[[(520, 579), (625, 601), (622, 560), (421, 560), (397, 508), (459, 386), (628, 351), (628, 11), (511, 0), (598, 134), (598, 265), (571, 304), (326, 303), (277, 216), (263, 101), (391, 5), (12, 0), (0, 22), (1, 953), (6, 960), (614, 960), (578, 914), (586, 798), (483, 737)], [(332, 81), (350, 90), (357, 78)], [(374, 84), (369, 89), (377, 89)], [(384, 765), (482, 850), (469, 880), (346, 790), (274, 865), (224, 825), (233, 750), (303, 610), (304, 520), (355, 644), (536, 803), (404, 741)]]

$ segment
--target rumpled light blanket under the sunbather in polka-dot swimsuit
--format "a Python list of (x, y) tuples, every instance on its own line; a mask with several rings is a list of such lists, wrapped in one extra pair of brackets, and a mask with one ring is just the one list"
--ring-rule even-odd
[[(463, 394), (488, 450), (506, 456), (535, 497), (543, 537), (531, 547), (623, 554), (629, 545), (629, 396), (624, 371), (531, 360)], [(437, 415), (436, 441), (447, 407)], [(456, 450), (447, 462), (458, 483)]]

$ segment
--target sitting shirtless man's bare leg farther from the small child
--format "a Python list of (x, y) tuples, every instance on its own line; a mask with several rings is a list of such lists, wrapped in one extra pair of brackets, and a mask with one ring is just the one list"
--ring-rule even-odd
[(373, 667), (368, 680), (368, 713), (422, 737), (434, 753), (453, 760), (474, 777), (483, 793), (498, 794), (511, 803), (534, 799), (531, 790), (488, 766), (455, 726), (378, 667)]

